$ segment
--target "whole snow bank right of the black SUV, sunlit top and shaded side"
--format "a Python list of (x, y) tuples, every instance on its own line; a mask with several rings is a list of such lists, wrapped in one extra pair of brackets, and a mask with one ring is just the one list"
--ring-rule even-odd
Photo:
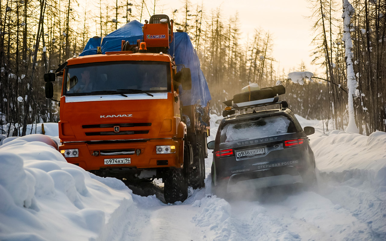
[(386, 133), (367, 137), (334, 130), (311, 137), (311, 146), (320, 170), (320, 193), (386, 240)]

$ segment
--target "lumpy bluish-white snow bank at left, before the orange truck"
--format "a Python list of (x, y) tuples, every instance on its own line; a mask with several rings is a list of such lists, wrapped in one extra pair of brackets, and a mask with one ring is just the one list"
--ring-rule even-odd
[(67, 163), (50, 137), (10, 138), (0, 146), (2, 241), (95, 240), (120, 220), (118, 207), (132, 206), (131, 194), (117, 179)]

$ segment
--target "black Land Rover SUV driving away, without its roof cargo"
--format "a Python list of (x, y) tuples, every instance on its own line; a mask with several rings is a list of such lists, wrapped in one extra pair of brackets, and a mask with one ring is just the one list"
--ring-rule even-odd
[[(306, 126), (303, 130), (285, 101), (257, 106), (268, 104), (282, 104), (283, 108), (226, 117), (215, 141), (208, 143), (208, 149), (214, 150), (216, 193), (315, 183), (315, 159), (307, 138), (315, 129)], [(237, 108), (231, 108), (233, 114)]]

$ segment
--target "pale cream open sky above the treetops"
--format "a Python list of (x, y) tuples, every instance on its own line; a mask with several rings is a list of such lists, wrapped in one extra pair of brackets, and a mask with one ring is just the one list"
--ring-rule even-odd
[[(178, 8), (185, 1), (159, 0), (157, 4), (162, 5), (164, 11)], [(190, 0), (193, 5), (203, 3), (205, 12), (220, 6), (223, 19), (229, 19), (236, 12), (239, 13), (240, 30), (244, 41), (247, 35), (252, 36), (254, 29), (261, 28), (273, 36), (273, 56), (278, 61), (276, 69), (289, 69), (298, 67), (303, 61), (310, 72), (318, 72), (317, 66), (312, 66), (310, 53), (314, 51), (311, 45), (313, 39), (313, 22), (306, 18), (311, 15), (308, 8), (310, 3), (306, 0)], [(180, 8), (179, 8), (180, 9)], [(162, 10), (162, 9), (161, 9)], [(157, 8), (156, 8), (157, 12)], [(320, 72), (320, 70), (319, 70)]]

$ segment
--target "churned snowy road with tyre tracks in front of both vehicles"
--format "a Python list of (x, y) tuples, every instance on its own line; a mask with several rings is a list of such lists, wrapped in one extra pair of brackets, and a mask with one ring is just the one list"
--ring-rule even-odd
[[(207, 173), (211, 162), (206, 160)], [(210, 194), (209, 179), (205, 189), (179, 205), (136, 197), (135, 222), (142, 228), (128, 219), (127, 229), (114, 240), (385, 240), (385, 230), (371, 221), (386, 220), (384, 198), (362, 190), (366, 187), (319, 180), (319, 190), (273, 190), (263, 200), (217, 198)], [(127, 212), (132, 216), (132, 209)]]

